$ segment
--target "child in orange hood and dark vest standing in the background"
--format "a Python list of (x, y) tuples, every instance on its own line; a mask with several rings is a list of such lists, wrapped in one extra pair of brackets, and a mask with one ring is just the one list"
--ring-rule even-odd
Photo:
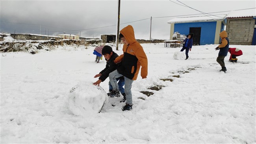
[(227, 69), (224, 63), (224, 58), (228, 55), (229, 40), (226, 31), (221, 31), (219, 35), (221, 37), (221, 44), (217, 46), (217, 48), (215, 48), (215, 50), (219, 50), (219, 54), (216, 61), (221, 65), (220, 71), (225, 72)]

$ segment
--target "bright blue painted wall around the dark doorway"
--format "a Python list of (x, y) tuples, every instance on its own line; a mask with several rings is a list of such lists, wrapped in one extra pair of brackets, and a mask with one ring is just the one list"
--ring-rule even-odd
[[(182, 35), (189, 34), (189, 28), (200, 27), (200, 45), (214, 44), (217, 22), (189, 22), (174, 24), (174, 32), (178, 31)], [(224, 26), (223, 26), (224, 30)]]

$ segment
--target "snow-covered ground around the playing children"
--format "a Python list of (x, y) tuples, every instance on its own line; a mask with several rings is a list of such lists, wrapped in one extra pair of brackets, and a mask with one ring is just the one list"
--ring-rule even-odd
[[(181, 48), (142, 46), (148, 78), (133, 83), (132, 111), (121, 110), (122, 98), (108, 98), (101, 113), (78, 115), (68, 109), (70, 89), (95, 82), (106, 65), (94, 62), (94, 47), (1, 54), (0, 143), (256, 142), (255, 46), (230, 45), (243, 55), (228, 63), (228, 54), (226, 74), (216, 44), (193, 46), (188, 60), (173, 58)], [(156, 85), (165, 87), (147, 89)], [(108, 79), (100, 86), (108, 92)]]

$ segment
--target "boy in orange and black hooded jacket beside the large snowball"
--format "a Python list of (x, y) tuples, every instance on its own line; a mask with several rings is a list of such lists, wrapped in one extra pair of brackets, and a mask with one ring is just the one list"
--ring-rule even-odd
[[(132, 109), (132, 83), (137, 79), (139, 69), (141, 67), (141, 77), (147, 78), (148, 75), (148, 59), (147, 56), (134, 36), (134, 29), (128, 25), (120, 31), (119, 37), (124, 43), (123, 52), (115, 59), (115, 63), (122, 62), (117, 70), (109, 74), (109, 81), (116, 93), (119, 93), (117, 80), (120, 76), (124, 76), (124, 92), (126, 94), (126, 105), (122, 107), (122, 111), (129, 111)], [(115, 94), (115, 93), (113, 93)]]

